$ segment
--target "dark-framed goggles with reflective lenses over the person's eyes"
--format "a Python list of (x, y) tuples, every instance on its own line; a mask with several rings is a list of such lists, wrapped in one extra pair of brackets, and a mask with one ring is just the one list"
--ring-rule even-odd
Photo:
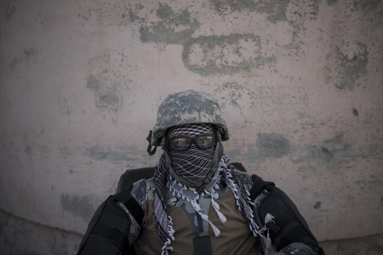
[(176, 149), (178, 151), (185, 151), (190, 148), (191, 142), (200, 149), (208, 149), (216, 145), (217, 137), (213, 134), (202, 134), (194, 138), (185, 135), (177, 135), (170, 139), (166, 139), (166, 147)]

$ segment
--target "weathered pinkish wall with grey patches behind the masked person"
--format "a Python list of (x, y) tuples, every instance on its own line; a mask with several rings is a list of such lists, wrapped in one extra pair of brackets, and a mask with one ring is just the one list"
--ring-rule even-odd
[(285, 190), (319, 240), (382, 234), (381, 1), (1, 5), (5, 254), (18, 238), (74, 253), (119, 176), (156, 164), (145, 138), (185, 89), (218, 99), (226, 154)]

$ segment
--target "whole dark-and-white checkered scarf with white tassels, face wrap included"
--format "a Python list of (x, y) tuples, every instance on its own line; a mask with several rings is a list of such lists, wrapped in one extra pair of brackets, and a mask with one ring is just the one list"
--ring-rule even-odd
[[(188, 129), (188, 132), (185, 132), (185, 128)], [(189, 124), (187, 125), (187, 127), (178, 126), (169, 130), (167, 134), (165, 134), (165, 136), (167, 135), (167, 137), (170, 138), (176, 135), (185, 134), (196, 136), (200, 135), (201, 133), (215, 133), (214, 126), (210, 124)], [(190, 182), (191, 180), (193, 182), (198, 182), (198, 180), (200, 179), (205, 179), (208, 170), (211, 168), (211, 161), (213, 160), (214, 149), (213, 152), (211, 152), (209, 149), (202, 150), (197, 148), (196, 146), (195, 148), (192, 147), (193, 143), (187, 151), (176, 151), (176, 153), (168, 151), (168, 154), (169, 156), (172, 155), (170, 156), (172, 160), (172, 167), (178, 175), (189, 180)], [(215, 146), (213, 146), (213, 148), (214, 147)], [(201, 151), (204, 151), (206, 153), (201, 153)], [(190, 159), (191, 163), (188, 163), (188, 160)], [(173, 161), (175, 161), (174, 164)], [(218, 214), (219, 219), (222, 223), (225, 223), (226, 218), (219, 211), (218, 203), (214, 201), (219, 198), (218, 193), (216, 193), (216, 190), (219, 188), (218, 184), (221, 183), (221, 180), (224, 180), (224, 182), (226, 182), (231, 192), (233, 193), (234, 198), (236, 199), (236, 205), (238, 206), (238, 210), (242, 212), (244, 219), (246, 219), (250, 227), (250, 231), (253, 233), (254, 236), (259, 235), (263, 237), (262, 234), (267, 229), (267, 227), (264, 226), (260, 228), (253, 220), (254, 215), (251, 207), (252, 205), (254, 205), (254, 203), (252, 203), (252, 201), (250, 200), (250, 193), (246, 190), (244, 184), (239, 179), (238, 174), (234, 171), (234, 167), (230, 165), (230, 162), (231, 161), (228, 158), (228, 156), (223, 154), (210, 182), (208, 184), (196, 188), (187, 187), (186, 185), (182, 185), (176, 180), (172, 179), (172, 177), (169, 175), (166, 169), (164, 155), (160, 157), (159, 162), (154, 169), (154, 215), (158, 236), (162, 244), (162, 255), (168, 255), (168, 250), (173, 250), (173, 247), (170, 247), (169, 244), (171, 241), (174, 241), (173, 234), (175, 232), (173, 229), (172, 218), (169, 216), (167, 210), (167, 197), (165, 193), (165, 188), (169, 188), (170, 192), (173, 191), (173, 197), (177, 196), (178, 198), (182, 198), (183, 200), (186, 200), (189, 203), (191, 203), (196, 213), (198, 213), (203, 220), (210, 224), (215, 236), (218, 237), (221, 232), (209, 220), (208, 215), (204, 214), (201, 211), (200, 205), (197, 203), (197, 200), (200, 196), (204, 196), (205, 194), (209, 195), (211, 197), (212, 206)], [(206, 169), (208, 170), (206, 171)], [(273, 218), (274, 217), (272, 215), (267, 214), (265, 217), (265, 223), (273, 222)]]

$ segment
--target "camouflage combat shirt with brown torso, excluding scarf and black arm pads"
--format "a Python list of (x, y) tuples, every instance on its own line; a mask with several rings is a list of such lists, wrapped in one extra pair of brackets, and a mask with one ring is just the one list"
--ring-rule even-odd
[[(252, 187), (250, 176), (245, 172), (238, 172), (238, 174), (246, 189), (249, 191)], [(162, 245), (158, 237), (154, 217), (153, 188), (154, 178), (142, 179), (134, 183), (131, 191), (131, 195), (138, 201), (145, 212), (141, 226), (130, 216), (131, 231), (129, 240), (135, 240), (134, 247), (139, 255), (158, 255), (162, 252)], [(219, 199), (215, 201), (219, 204), (220, 212), (227, 218), (226, 223), (223, 224), (219, 220), (218, 215), (211, 205), (210, 196), (205, 195), (203, 198), (200, 197), (198, 203), (204, 213), (208, 214), (213, 224), (221, 231), (219, 237), (214, 236), (209, 224), (201, 219), (191, 203), (182, 198), (173, 197), (172, 192), (167, 191), (168, 213), (169, 216), (172, 217), (173, 229), (175, 230), (175, 240), (170, 244), (170, 246), (173, 247), (173, 251), (169, 251), (170, 255), (195, 254), (195, 239), (198, 240), (198, 238), (201, 237), (205, 237), (205, 239), (209, 237), (211, 254), (264, 254), (263, 238), (253, 236), (242, 213), (238, 211), (236, 200), (229, 187), (224, 183), (224, 180), (221, 182), (217, 193), (219, 194)], [(254, 200), (254, 212), (257, 212), (255, 205), (259, 203), (262, 196), (265, 195), (261, 194)], [(257, 216), (254, 218), (259, 226), (263, 226)], [(287, 245), (275, 254), (315, 255), (316, 253), (304, 244), (293, 243)]]

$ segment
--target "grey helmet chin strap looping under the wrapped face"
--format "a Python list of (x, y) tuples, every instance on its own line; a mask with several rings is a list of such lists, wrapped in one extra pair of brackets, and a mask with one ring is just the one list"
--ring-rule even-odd
[[(186, 185), (188, 187), (200, 187), (204, 184), (208, 184), (210, 182), (211, 178), (213, 177), (214, 172), (217, 169), (218, 162), (221, 160), (222, 155), (223, 155), (223, 146), (221, 143), (221, 132), (219, 130), (217, 130), (217, 138), (218, 138), (218, 142), (217, 142), (216, 147), (214, 149), (213, 164), (212, 164), (212, 166), (208, 172), (208, 175), (206, 175), (205, 180), (203, 180), (201, 182), (197, 182), (197, 183), (189, 182), (188, 180), (180, 177), (174, 171), (173, 167), (171, 166), (172, 161), (170, 160), (170, 157), (166, 152), (166, 148), (165, 148), (165, 146), (162, 146), (163, 147), (162, 149), (164, 150), (165, 161), (166, 161), (166, 169), (169, 170), (170, 176), (172, 176), (175, 180), (177, 180), (178, 183)], [(165, 138), (162, 138), (161, 145), (162, 144), (165, 145)]]

